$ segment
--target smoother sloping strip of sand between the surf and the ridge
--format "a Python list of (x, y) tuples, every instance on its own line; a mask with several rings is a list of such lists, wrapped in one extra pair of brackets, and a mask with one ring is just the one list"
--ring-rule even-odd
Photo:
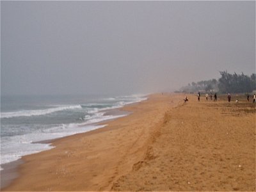
[(179, 102), (178, 95), (150, 95), (122, 108), (132, 113), (102, 129), (55, 140), (55, 148), (22, 157), (20, 177), (3, 190), (109, 190), (143, 159), (164, 113)]

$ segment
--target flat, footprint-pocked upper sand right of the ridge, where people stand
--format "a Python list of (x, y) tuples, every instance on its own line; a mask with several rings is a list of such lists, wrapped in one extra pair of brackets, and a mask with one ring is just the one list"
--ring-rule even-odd
[(166, 113), (147, 156), (113, 190), (255, 191), (255, 105), (190, 98)]

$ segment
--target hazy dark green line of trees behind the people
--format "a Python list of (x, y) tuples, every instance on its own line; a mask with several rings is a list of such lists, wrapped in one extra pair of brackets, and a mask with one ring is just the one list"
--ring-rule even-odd
[(207, 81), (189, 83), (180, 88), (180, 92), (220, 92), (220, 93), (252, 93), (256, 90), (256, 74), (246, 76), (243, 74), (229, 74), (226, 71), (220, 72), (220, 78)]

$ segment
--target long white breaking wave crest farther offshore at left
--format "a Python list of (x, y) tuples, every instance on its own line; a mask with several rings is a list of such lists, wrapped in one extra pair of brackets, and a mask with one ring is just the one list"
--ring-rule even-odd
[(38, 115), (47, 115), (49, 113), (54, 113), (57, 111), (70, 110), (70, 109), (81, 109), (81, 105), (76, 106), (61, 106), (58, 108), (49, 108), (49, 109), (38, 109), (38, 110), (22, 110), (22, 111), (13, 111), (1, 113), (1, 118), (12, 118), (18, 116), (38, 116)]

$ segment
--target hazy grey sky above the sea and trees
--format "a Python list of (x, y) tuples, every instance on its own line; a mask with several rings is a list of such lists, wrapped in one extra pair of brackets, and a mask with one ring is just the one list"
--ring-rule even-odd
[(255, 1), (1, 1), (1, 94), (148, 93), (255, 72)]

